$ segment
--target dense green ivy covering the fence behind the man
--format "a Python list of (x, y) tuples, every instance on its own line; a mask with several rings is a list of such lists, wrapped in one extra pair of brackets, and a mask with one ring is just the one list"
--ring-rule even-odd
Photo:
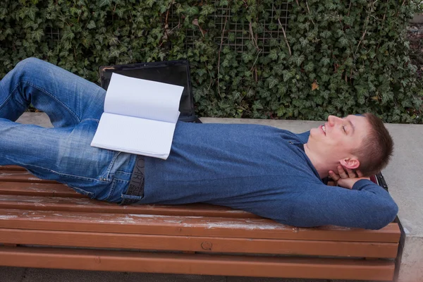
[[(283, 2), (1, 1), (0, 78), (30, 56), (94, 82), (99, 66), (188, 59), (199, 116), (319, 120), (371, 111), (386, 122), (422, 123), (421, 82), (405, 40), (412, 1), (288, 1), (286, 38), (264, 46), (257, 35), (281, 31), (283, 11), (269, 10)], [(247, 27), (243, 51), (231, 46), (235, 23)]]

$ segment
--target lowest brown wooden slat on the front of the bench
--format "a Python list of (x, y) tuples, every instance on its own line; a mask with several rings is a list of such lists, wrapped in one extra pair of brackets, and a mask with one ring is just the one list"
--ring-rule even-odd
[(284, 278), (393, 279), (392, 261), (0, 247), (5, 266)]

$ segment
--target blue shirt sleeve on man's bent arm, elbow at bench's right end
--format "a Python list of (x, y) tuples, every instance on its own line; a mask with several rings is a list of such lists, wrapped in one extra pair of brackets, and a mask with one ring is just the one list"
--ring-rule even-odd
[(362, 179), (351, 190), (324, 184), (305, 189), (297, 195), (289, 224), (380, 229), (397, 213), (397, 204), (384, 188)]

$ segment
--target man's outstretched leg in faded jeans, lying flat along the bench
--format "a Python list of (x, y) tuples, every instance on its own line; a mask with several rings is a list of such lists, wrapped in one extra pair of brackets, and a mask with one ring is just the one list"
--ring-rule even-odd
[(0, 118), (0, 165), (23, 166), (39, 178), (97, 195), (128, 161), (125, 154), (90, 146), (97, 124), (85, 119), (74, 127), (42, 128)]

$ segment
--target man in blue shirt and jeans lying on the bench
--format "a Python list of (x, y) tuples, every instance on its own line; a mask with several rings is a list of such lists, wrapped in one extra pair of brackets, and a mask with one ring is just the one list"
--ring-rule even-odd
[[(0, 81), (0, 164), (23, 166), (97, 200), (205, 202), (300, 227), (378, 229), (398, 212), (388, 192), (368, 178), (393, 152), (388, 130), (373, 114), (329, 116), (302, 134), (178, 122), (163, 160), (90, 146), (105, 94), (50, 63), (21, 61)], [(54, 128), (15, 123), (30, 104)], [(328, 176), (338, 187), (324, 184)]]

